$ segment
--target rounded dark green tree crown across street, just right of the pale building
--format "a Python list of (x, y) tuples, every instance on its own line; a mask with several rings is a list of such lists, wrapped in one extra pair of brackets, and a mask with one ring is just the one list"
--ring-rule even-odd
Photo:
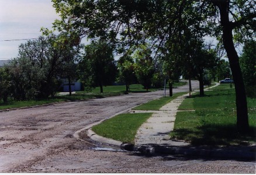
[(103, 86), (112, 85), (117, 74), (116, 62), (113, 57), (113, 48), (105, 41), (92, 41), (85, 46), (85, 54), (80, 61), (86, 71), (80, 69), (81, 79), (87, 82), (87, 85), (93, 83), (93, 86), (100, 86), (103, 92)]

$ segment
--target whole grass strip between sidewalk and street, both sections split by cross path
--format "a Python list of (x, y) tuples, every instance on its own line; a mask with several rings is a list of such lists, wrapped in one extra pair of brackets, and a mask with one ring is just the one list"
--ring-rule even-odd
[[(169, 103), (169, 101), (185, 93), (187, 92), (175, 93), (172, 97), (161, 97), (160, 99), (141, 104), (133, 108), (133, 110), (159, 110), (162, 106)], [(116, 115), (115, 117), (103, 121), (101, 124), (95, 125), (92, 127), (92, 131), (98, 135), (116, 141), (134, 143), (137, 129), (139, 129), (152, 114), (153, 113), (128, 113)]]

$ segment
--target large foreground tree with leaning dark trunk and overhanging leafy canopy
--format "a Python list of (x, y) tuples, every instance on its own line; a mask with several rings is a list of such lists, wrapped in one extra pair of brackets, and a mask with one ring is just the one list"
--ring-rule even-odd
[[(241, 0), (53, 0), (61, 14), (54, 26), (81, 36), (108, 38), (123, 48), (150, 41), (158, 48), (184, 34), (185, 27), (202, 36), (211, 34), (222, 41), (236, 88), (237, 127), (248, 131), (247, 100), (243, 76), (234, 47), (234, 37), (255, 33), (255, 1)], [(178, 46), (177, 46), (178, 47)], [(182, 46), (179, 46), (179, 48)]]

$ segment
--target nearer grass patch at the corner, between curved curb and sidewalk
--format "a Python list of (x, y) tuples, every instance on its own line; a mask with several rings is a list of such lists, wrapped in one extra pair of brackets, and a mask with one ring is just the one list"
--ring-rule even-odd
[(92, 131), (116, 141), (134, 143), (139, 127), (153, 113), (119, 114), (92, 127)]

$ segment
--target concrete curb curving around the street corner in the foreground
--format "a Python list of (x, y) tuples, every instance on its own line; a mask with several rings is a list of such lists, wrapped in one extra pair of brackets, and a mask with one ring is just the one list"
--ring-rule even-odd
[(99, 136), (95, 134), (94, 131), (91, 130), (90, 127), (92, 125), (99, 124), (100, 122), (95, 122), (94, 124), (88, 125), (87, 128), (80, 129), (75, 134), (75, 138), (80, 139), (78, 133), (88, 129), (87, 135), (94, 141), (105, 143), (112, 146), (117, 146), (122, 150), (132, 151), (132, 152), (141, 152), (144, 154), (164, 154), (164, 155), (184, 155), (189, 157), (207, 157), (207, 158), (219, 158), (219, 159), (248, 159), (255, 160), (256, 159), (256, 145), (250, 146), (251, 148), (248, 150), (231, 150), (228, 148), (217, 148), (217, 149), (204, 149), (204, 148), (195, 148), (195, 147), (181, 147), (181, 146), (139, 146), (133, 145), (130, 143), (123, 143), (120, 141), (115, 141), (113, 139), (105, 138), (103, 136)]

